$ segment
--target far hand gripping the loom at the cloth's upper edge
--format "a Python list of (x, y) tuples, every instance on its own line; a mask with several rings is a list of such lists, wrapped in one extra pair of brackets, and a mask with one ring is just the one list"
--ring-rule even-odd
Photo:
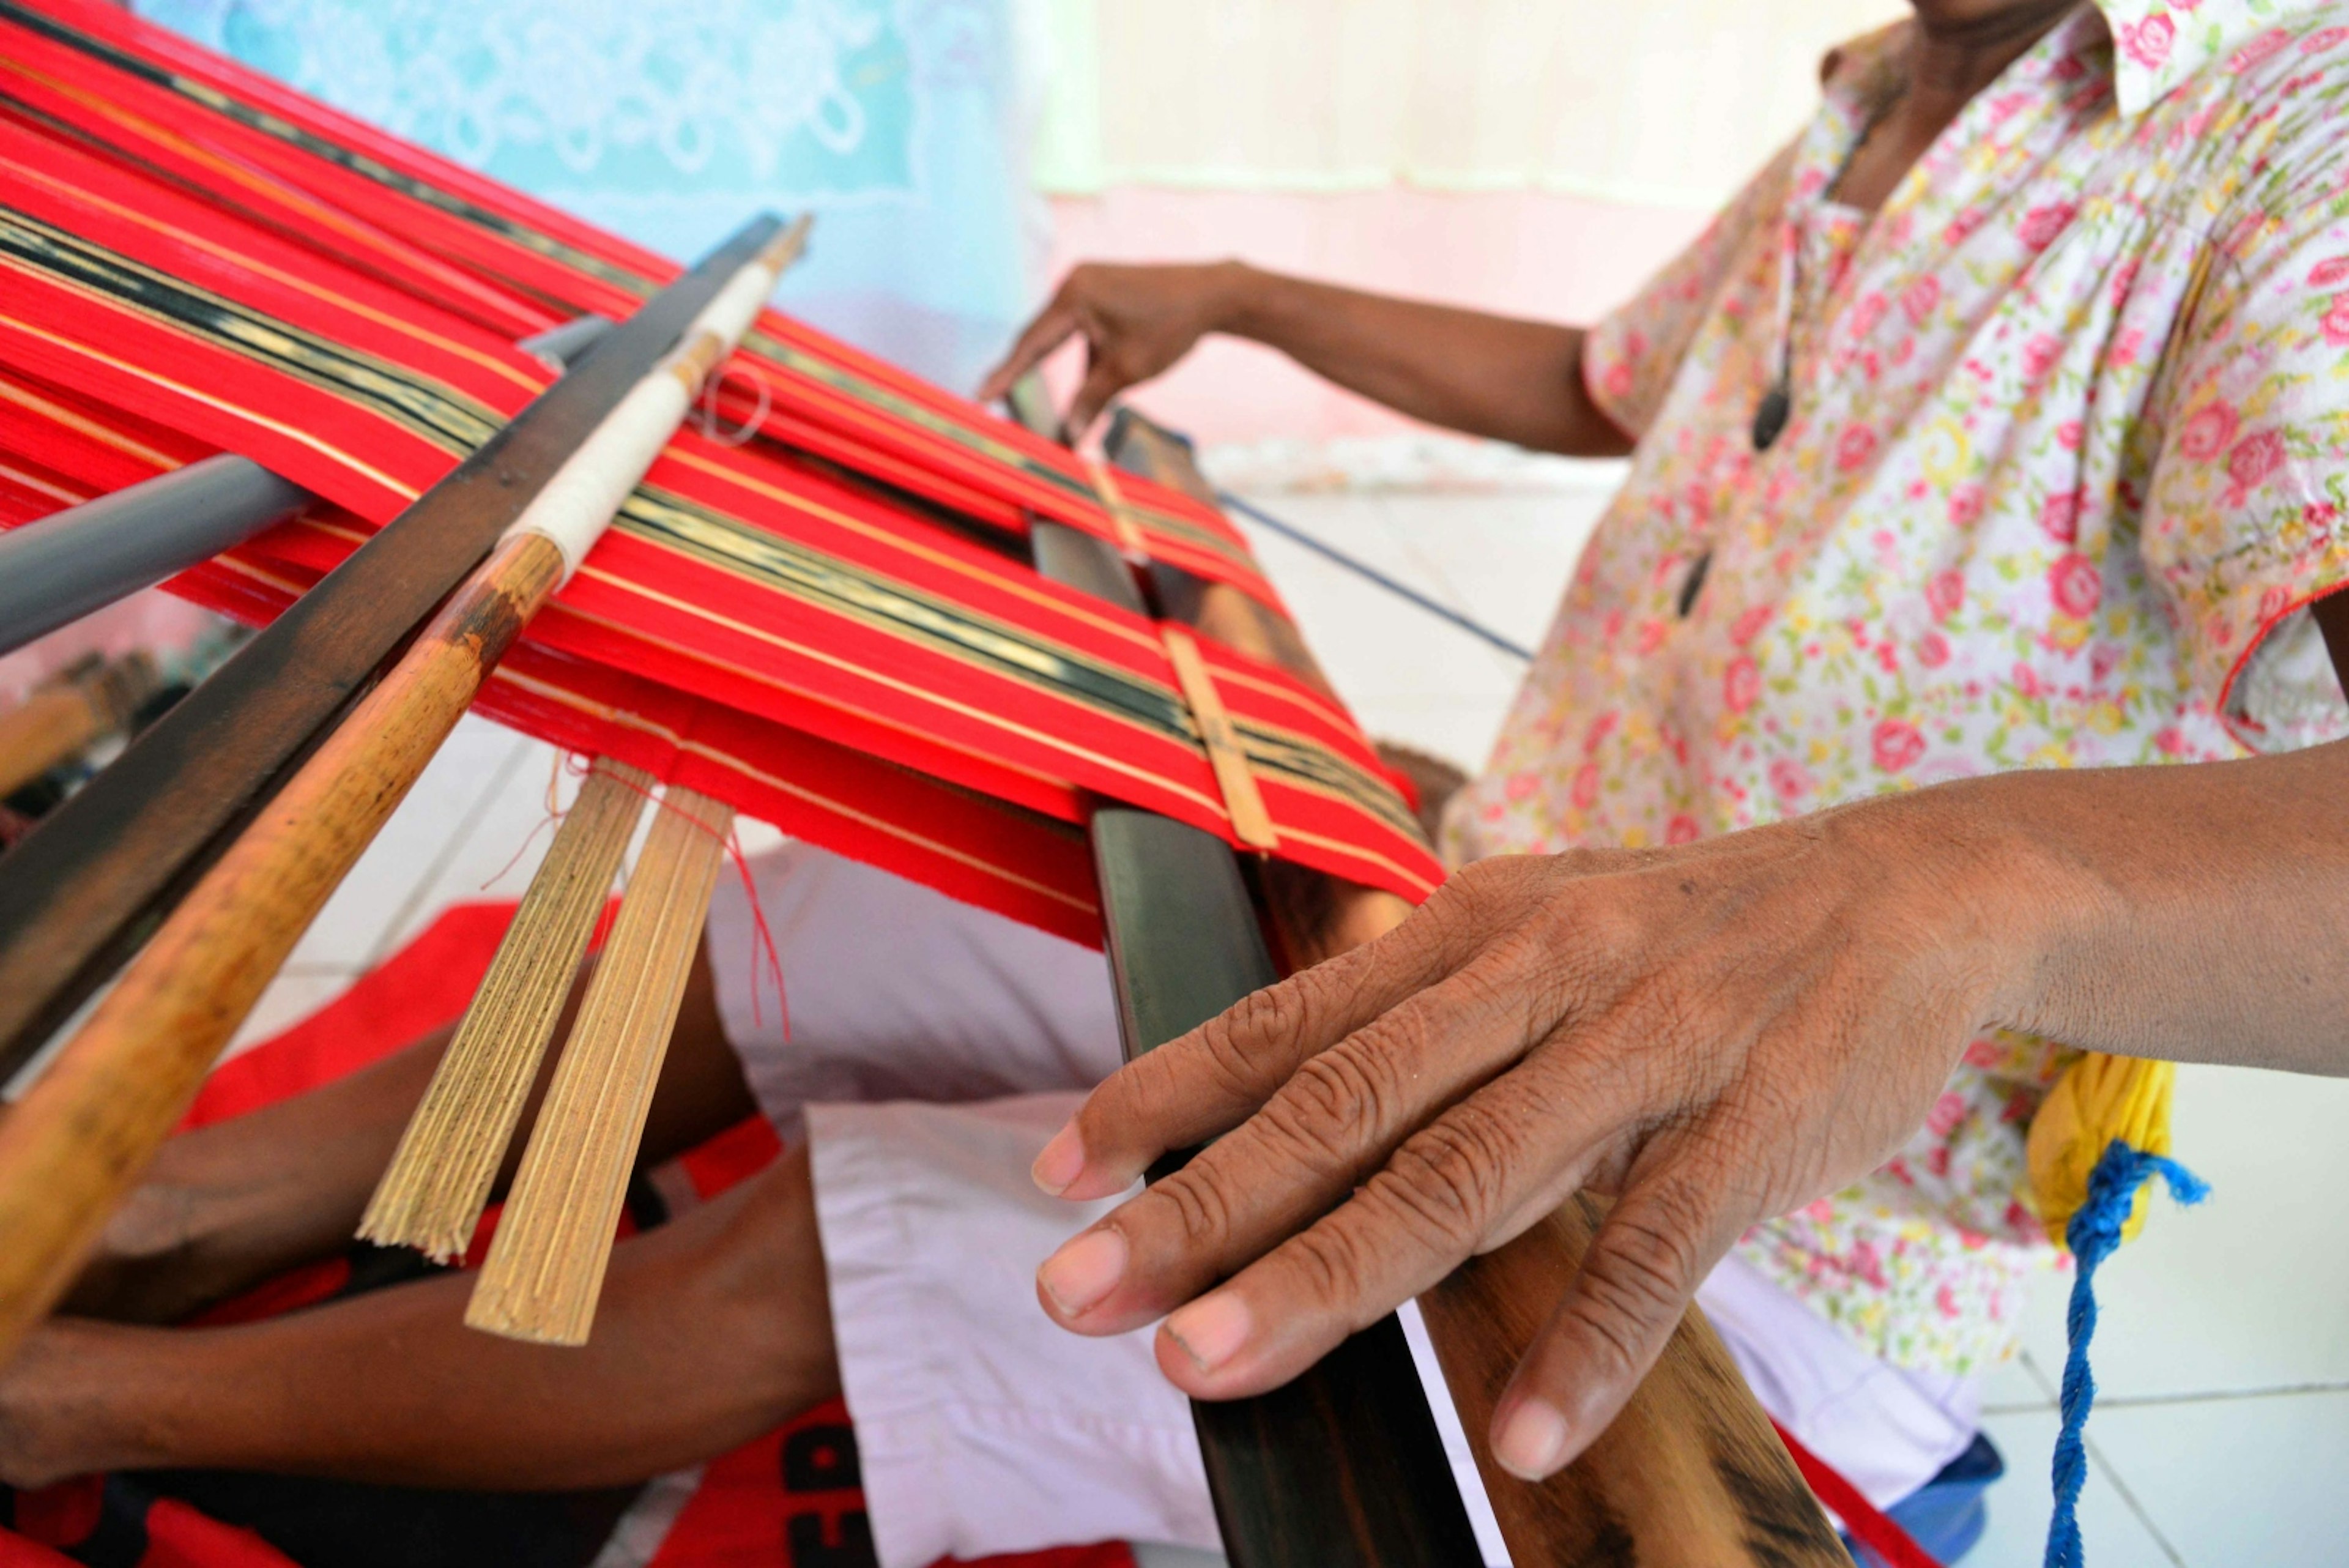
[(980, 383), (980, 402), (1012, 383), (1071, 336), (1085, 339), (1085, 383), (1069, 404), (1066, 440), (1076, 442), (1109, 400), (1149, 381), (1224, 329), (1247, 289), (1238, 261), (1196, 266), (1113, 266), (1090, 261), (1069, 273), (1003, 364)]

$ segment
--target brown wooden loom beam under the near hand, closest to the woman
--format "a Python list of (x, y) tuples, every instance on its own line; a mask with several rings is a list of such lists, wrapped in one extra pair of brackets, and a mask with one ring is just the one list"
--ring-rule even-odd
[[(1214, 501), (1179, 437), (1120, 409), (1109, 442), (1120, 465)], [(1294, 628), (1261, 604), (1165, 567), (1153, 571), (1163, 604), (1182, 602), (1203, 630), (1327, 691), (1311, 656), (1297, 661), (1304, 644)], [(1297, 966), (1372, 940), (1409, 914), (1393, 893), (1297, 867), (1266, 870), (1283, 872), (1266, 877), (1266, 912)], [(1696, 1307), (1583, 1458), (1539, 1486), (1492, 1465), (1485, 1432), (1494, 1403), (1581, 1267), (1602, 1215), (1595, 1199), (1576, 1197), (1508, 1246), (1470, 1258), (1419, 1300), (1510, 1556), (1647, 1568), (1849, 1568), (1851, 1556), (1818, 1500)]]

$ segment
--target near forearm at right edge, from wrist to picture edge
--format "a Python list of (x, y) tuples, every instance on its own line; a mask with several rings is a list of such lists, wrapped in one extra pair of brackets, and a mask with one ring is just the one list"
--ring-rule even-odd
[(2349, 1074), (2349, 743), (2001, 773), (1867, 811), (1907, 853), (1938, 846), (1999, 886), (1992, 919), (2018, 940), (1994, 1023), (2119, 1056)]

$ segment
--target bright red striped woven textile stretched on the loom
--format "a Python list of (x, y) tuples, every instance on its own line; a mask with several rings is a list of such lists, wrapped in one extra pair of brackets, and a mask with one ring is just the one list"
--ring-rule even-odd
[[(80, 132), (68, 143), (0, 110), (0, 522), (247, 454), (334, 503), (174, 583), (249, 621), (552, 378), (505, 339), (550, 280), (573, 280), (566, 310), (627, 308), (672, 270), (103, 7), (0, 5), (0, 89)], [(477, 287), (420, 299), (449, 268)], [(1069, 454), (935, 388), (773, 313), (761, 331), (742, 364), (815, 388), (778, 404), (806, 451), (855, 428), (886, 477), (933, 465), (940, 494), (1015, 515), (1048, 510), (1038, 484), (1062, 498), (1083, 484)], [(1128, 515), (1160, 517), (1146, 534), (1165, 559), (1205, 571), (1238, 548), (1210, 508), (1118, 489)], [(1090, 489), (1062, 510), (1085, 508), (1109, 527)], [(1224, 835), (1229, 816), (1156, 625), (1045, 583), (987, 527), (778, 442), (681, 433), (482, 708), (1099, 940), (1090, 867), (1062, 827), (1085, 797)], [(1254, 571), (1245, 550), (1224, 567), (1238, 585)], [(1353, 719), (1280, 670), (1207, 658), (1278, 853), (1423, 898), (1440, 870)]]

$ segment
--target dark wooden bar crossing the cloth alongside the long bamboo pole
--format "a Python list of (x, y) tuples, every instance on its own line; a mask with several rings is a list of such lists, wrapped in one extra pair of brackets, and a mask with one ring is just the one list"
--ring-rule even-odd
[(745, 228), (592, 343), (0, 858), (0, 1077), (148, 938), (620, 397), (773, 237)]

